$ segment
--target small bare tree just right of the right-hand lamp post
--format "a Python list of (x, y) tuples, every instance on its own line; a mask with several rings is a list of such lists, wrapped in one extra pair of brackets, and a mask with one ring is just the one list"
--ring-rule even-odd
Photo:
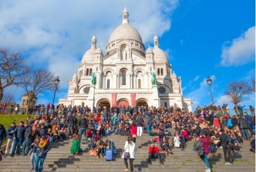
[(233, 81), (227, 84), (225, 94), (227, 95), (227, 98), (229, 98), (235, 105), (237, 114), (239, 112), (238, 104), (250, 99), (250, 90), (248, 90), (248, 84), (243, 81)]

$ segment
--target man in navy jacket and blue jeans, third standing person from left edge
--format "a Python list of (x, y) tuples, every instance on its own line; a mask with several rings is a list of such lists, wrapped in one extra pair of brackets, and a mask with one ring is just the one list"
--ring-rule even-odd
[(17, 147), (16, 155), (19, 155), (19, 149), (21, 148), (21, 144), (24, 139), (24, 134), (25, 134), (24, 122), (21, 121), (19, 122), (19, 125), (14, 130), (14, 146), (12, 147), (10, 156), (14, 156), (16, 147)]

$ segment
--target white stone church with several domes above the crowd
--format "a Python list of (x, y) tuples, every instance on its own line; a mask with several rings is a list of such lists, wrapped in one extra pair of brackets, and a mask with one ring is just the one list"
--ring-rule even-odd
[[(122, 24), (112, 32), (106, 45), (106, 53), (98, 46), (94, 35), (91, 49), (84, 53), (82, 61), (69, 81), (68, 98), (59, 103), (89, 107), (112, 105), (185, 106), (192, 111), (190, 98), (184, 98), (181, 78), (172, 72), (166, 53), (159, 47), (157, 35), (154, 47), (147, 47), (139, 32), (129, 23), (129, 12), (123, 11)], [(152, 85), (151, 72), (157, 83)], [(97, 77), (91, 84), (91, 74)]]

